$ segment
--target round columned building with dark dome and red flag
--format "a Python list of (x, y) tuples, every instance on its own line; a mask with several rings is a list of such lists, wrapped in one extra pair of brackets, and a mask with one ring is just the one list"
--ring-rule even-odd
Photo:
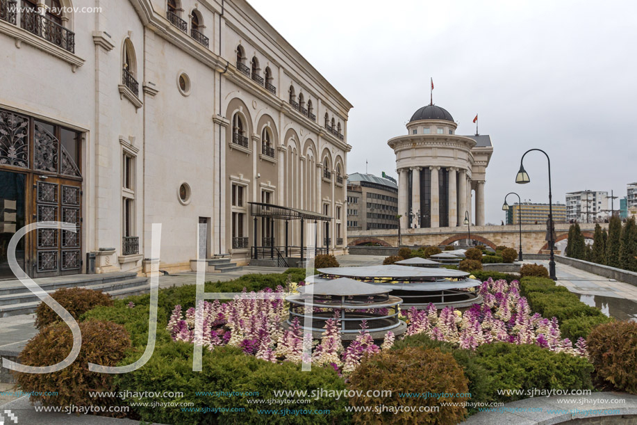
[(456, 127), (447, 110), (429, 104), (415, 111), (405, 136), (388, 141), (396, 154), (402, 229), (456, 227), (465, 216), (484, 225), (484, 184), (493, 146), (490, 136), (460, 136)]

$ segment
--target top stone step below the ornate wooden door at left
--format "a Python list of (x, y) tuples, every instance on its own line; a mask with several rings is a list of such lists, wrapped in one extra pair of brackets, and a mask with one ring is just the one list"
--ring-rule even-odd
[[(122, 282), (124, 280), (136, 279), (135, 272), (104, 273), (99, 275), (69, 275), (58, 276), (56, 278), (36, 278), (40, 288), (51, 292), (60, 288), (89, 287), (92, 285), (105, 284), (110, 282)], [(0, 296), (8, 294), (31, 294), (19, 280), (6, 280), (0, 282)]]

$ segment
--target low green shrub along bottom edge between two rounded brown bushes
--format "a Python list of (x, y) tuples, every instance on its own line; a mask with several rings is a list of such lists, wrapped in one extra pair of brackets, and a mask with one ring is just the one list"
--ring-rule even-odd
[[(281, 364), (266, 362), (252, 355), (245, 355), (240, 348), (222, 346), (213, 351), (203, 350), (201, 371), (192, 371), (192, 344), (171, 342), (157, 346), (152, 358), (143, 367), (128, 374), (117, 375), (120, 391), (164, 392), (174, 390), (183, 396), (160, 401), (193, 403), (192, 410), (182, 411), (181, 407), (156, 408), (152, 406), (131, 406), (145, 422), (160, 424), (333, 424), (349, 422), (350, 414), (345, 412), (347, 397), (307, 397), (310, 403), (275, 404), (249, 403), (256, 399), (277, 399), (274, 391), (307, 390), (342, 391), (345, 382), (331, 367), (313, 366), (311, 371), (301, 371), (301, 365), (292, 362)], [(134, 361), (134, 356), (123, 363)], [(255, 396), (214, 396), (213, 392), (249, 392)], [(199, 394), (197, 394), (199, 393)], [(205, 394), (209, 395), (205, 395)], [(284, 400), (282, 396), (278, 399)], [(132, 402), (152, 402), (156, 399), (131, 399)], [(243, 408), (243, 412), (206, 412), (205, 408)], [(306, 409), (330, 410), (330, 415), (261, 415), (265, 409)]]

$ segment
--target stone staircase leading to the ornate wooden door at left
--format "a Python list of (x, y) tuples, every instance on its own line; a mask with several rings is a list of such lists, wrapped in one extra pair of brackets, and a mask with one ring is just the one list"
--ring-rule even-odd
[[(51, 294), (60, 288), (86, 288), (102, 291), (113, 298), (147, 294), (148, 278), (138, 278), (137, 273), (104, 273), (99, 275), (69, 275), (56, 278), (38, 278), (35, 283)], [(30, 314), (40, 305), (40, 298), (26, 289), (19, 280), (0, 282), (0, 317)]]

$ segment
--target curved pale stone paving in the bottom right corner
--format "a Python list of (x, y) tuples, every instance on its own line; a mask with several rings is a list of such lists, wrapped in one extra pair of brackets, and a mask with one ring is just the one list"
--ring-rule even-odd
[[(593, 392), (586, 396), (537, 396), (505, 403), (492, 412), (470, 416), (463, 425), (635, 424), (637, 396), (622, 392)], [(628, 416), (620, 422), (619, 417)], [(586, 418), (590, 422), (579, 422)], [(588, 419), (597, 418), (597, 419)]]

